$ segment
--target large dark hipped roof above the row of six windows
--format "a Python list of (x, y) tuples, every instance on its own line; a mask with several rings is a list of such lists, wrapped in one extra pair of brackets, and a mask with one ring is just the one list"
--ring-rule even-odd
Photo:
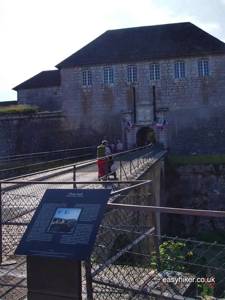
[(225, 51), (190, 22), (108, 30), (55, 67)]

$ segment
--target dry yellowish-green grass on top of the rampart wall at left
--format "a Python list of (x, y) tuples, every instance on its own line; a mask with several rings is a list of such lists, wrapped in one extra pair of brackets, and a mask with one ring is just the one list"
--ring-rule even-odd
[(12, 116), (12, 115), (28, 115), (31, 113), (38, 113), (39, 107), (30, 105), (10, 105), (0, 107), (0, 116)]

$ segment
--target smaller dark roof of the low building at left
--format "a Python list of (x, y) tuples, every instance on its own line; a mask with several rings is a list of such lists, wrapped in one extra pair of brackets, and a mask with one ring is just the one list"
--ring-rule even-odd
[(22, 82), (21, 84), (12, 88), (14, 91), (29, 89), (29, 88), (42, 88), (47, 86), (61, 85), (61, 72), (60, 70), (42, 71), (30, 79)]

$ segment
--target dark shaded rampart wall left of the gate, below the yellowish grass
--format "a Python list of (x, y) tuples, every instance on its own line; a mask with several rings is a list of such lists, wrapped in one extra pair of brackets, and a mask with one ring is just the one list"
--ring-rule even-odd
[(0, 157), (92, 146), (71, 131), (62, 113), (0, 117)]

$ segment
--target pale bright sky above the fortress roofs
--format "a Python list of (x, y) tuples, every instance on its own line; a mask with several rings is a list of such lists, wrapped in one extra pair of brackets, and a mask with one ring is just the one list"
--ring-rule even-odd
[(225, 0), (0, 0), (0, 101), (109, 29), (177, 22), (225, 42)]

